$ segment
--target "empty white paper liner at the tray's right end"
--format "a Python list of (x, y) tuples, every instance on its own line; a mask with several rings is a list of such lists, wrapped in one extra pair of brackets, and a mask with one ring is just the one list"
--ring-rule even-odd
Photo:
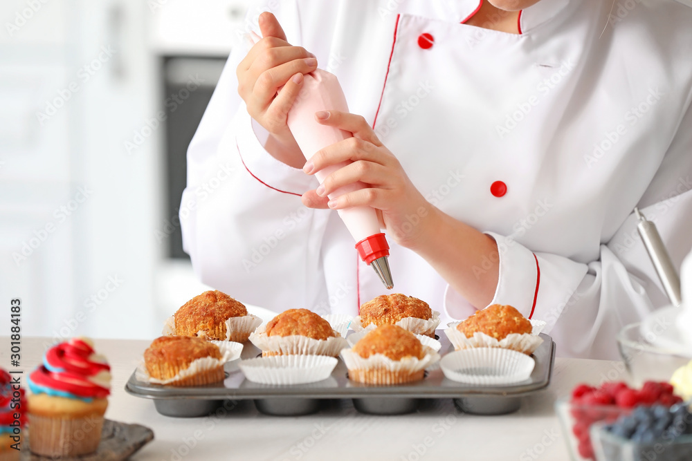
[(457, 350), (439, 362), (447, 379), (477, 386), (515, 384), (531, 376), (536, 362), (522, 352), (499, 348)]

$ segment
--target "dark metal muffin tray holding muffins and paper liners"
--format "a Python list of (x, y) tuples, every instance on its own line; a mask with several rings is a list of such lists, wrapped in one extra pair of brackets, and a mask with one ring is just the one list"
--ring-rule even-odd
[[(437, 331), (442, 344), (440, 355), (453, 352), (447, 336)], [(199, 387), (172, 387), (139, 381), (132, 373), (125, 391), (136, 397), (154, 399), (156, 411), (173, 417), (208, 415), (225, 400), (252, 399), (257, 410), (268, 415), (295, 416), (319, 411), (325, 399), (353, 399), (361, 413), (397, 415), (417, 409), (420, 399), (453, 399), (455, 406), (466, 413), (502, 415), (517, 411), (521, 397), (540, 391), (550, 383), (555, 361), (555, 344), (551, 337), (534, 352), (536, 366), (529, 379), (511, 386), (474, 386), (451, 381), (444, 377), (439, 366), (426, 371), (422, 381), (400, 386), (372, 386), (349, 381), (347, 369), (339, 359), (331, 377), (311, 384), (273, 386), (245, 379), (238, 368), (239, 360), (229, 362), (224, 369), (226, 379), (219, 384)], [(251, 359), (261, 351), (247, 342), (241, 359)]]

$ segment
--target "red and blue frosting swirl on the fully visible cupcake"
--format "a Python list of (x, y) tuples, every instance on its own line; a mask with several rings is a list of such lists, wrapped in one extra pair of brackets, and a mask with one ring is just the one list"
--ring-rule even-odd
[(110, 394), (107, 387), (100, 386), (90, 378), (111, 367), (90, 359), (94, 351), (81, 339), (71, 339), (48, 349), (44, 365), (31, 373), (33, 384), (55, 391), (70, 393), (76, 397), (102, 399)]

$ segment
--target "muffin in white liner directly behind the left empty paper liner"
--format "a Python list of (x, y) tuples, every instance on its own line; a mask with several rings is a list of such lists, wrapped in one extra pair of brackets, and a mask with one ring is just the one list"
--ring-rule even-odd
[(262, 325), (250, 340), (268, 355), (329, 355), (337, 357), (345, 339), (325, 319), (307, 309), (289, 309)]

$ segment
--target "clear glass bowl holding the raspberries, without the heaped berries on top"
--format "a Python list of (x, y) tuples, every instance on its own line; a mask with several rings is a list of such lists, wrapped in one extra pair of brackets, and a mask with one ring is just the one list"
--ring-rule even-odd
[(594, 450), (590, 439), (591, 426), (598, 422), (614, 422), (621, 415), (629, 415), (633, 408), (621, 408), (617, 405), (585, 405), (570, 401), (570, 397), (562, 397), (555, 403), (567, 449), (572, 461), (595, 460)]

